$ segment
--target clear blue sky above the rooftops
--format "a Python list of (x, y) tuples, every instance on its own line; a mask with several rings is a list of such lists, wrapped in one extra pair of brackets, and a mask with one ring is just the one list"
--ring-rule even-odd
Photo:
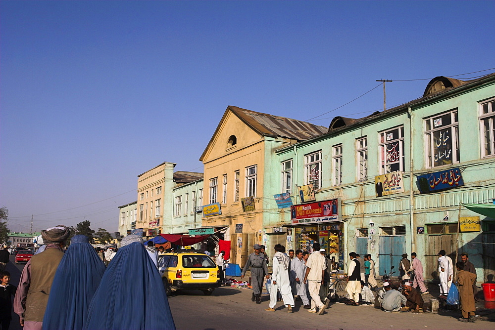
[[(0, 2), (0, 206), (28, 231), (118, 227), (137, 175), (198, 161), (228, 105), (309, 120), (387, 79), (494, 72), (495, 1)], [(398, 80), (424, 79), (412, 82)], [(378, 87), (310, 122), (383, 109)]]

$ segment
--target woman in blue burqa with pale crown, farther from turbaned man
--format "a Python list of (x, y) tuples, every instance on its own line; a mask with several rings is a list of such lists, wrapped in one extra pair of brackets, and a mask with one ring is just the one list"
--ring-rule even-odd
[(165, 288), (143, 239), (128, 235), (101, 279), (86, 330), (175, 329)]

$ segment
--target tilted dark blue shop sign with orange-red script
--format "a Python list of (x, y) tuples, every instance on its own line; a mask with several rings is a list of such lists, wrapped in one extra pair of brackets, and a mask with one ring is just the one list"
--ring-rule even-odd
[(417, 185), (421, 193), (461, 187), (464, 185), (459, 167), (419, 175)]

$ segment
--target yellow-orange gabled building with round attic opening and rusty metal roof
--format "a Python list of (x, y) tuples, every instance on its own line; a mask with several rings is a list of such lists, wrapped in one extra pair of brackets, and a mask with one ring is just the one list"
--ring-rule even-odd
[(265, 224), (273, 223), (269, 210), (277, 206), (273, 196), (264, 194), (265, 187), (280, 184), (279, 177), (265, 177), (265, 172), (273, 172), (271, 166), (280, 166), (272, 164), (274, 150), (327, 131), (294, 119), (227, 107), (199, 161), (204, 165), (202, 227), (223, 229), (222, 236), (231, 241), (232, 263), (244, 265), (256, 243), (268, 242), (267, 249), (274, 245), (267, 240), (271, 228)]

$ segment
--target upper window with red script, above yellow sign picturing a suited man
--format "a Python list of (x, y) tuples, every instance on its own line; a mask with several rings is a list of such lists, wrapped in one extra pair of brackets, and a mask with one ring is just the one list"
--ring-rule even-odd
[(380, 132), (380, 174), (404, 170), (404, 126)]

